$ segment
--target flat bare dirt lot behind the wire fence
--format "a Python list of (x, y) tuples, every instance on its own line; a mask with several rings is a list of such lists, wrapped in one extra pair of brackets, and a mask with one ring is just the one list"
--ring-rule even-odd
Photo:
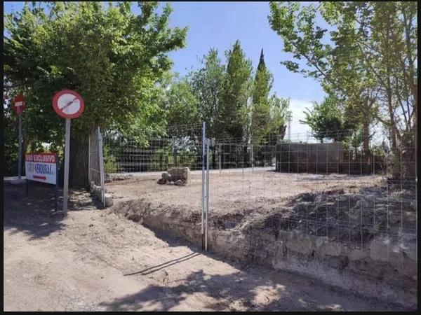
[[(228, 172), (227, 172), (228, 171)], [(200, 209), (201, 174), (195, 172), (187, 186), (159, 185), (160, 174), (131, 176), (123, 181), (107, 183), (106, 189), (117, 201), (145, 197), (149, 202), (163, 206), (196, 207)], [(226, 170), (210, 172), (209, 207), (212, 213), (228, 213), (250, 204), (285, 201), (299, 193), (313, 191), (361, 188), (380, 184), (380, 176), (347, 176), (343, 174), (286, 174), (272, 171), (241, 172)]]

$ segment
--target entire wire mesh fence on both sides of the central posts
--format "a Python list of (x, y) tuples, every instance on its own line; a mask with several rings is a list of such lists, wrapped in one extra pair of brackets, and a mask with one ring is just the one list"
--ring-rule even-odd
[[(142, 195), (162, 207), (184, 207), (180, 224), (199, 228), (201, 125), (172, 127), (166, 137), (147, 141), (109, 133), (104, 155), (110, 178), (124, 174), (141, 179), (124, 193)], [(305, 235), (369, 255), (378, 250), (380, 260), (401, 264), (408, 255), (416, 257), (415, 136), (394, 149), (385, 137), (365, 139), (343, 130), (319, 138), (307, 133), (259, 141), (210, 139), (207, 158), (208, 229), (236, 235), (227, 246), (239, 257), (250, 252), (268, 256), (285, 234), (292, 242), (294, 235)], [(186, 187), (156, 183), (161, 172), (174, 167), (189, 168)], [(385, 251), (376, 247), (377, 240), (386, 244)]]

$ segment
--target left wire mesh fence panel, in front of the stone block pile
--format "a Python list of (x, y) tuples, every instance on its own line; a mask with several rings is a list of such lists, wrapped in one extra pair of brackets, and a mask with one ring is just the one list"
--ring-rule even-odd
[(197, 233), (200, 239), (202, 150), (200, 124), (171, 126), (165, 134), (155, 137), (123, 137), (107, 132), (107, 190), (116, 200), (148, 202), (146, 209), (143, 205), (131, 206), (133, 213), (145, 209), (148, 214), (162, 215), (145, 224), (168, 226), (173, 232), (189, 235)]

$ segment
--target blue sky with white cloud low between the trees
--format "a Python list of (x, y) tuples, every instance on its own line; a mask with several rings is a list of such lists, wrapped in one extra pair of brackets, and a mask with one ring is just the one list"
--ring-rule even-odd
[[(23, 2), (6, 2), (4, 12), (20, 10), (22, 6)], [(218, 49), (225, 63), (225, 50), (231, 48), (237, 39), (256, 69), (263, 48), (265, 64), (274, 76), (272, 92), (290, 99), (291, 134), (310, 130), (299, 120), (304, 118), (305, 108), (312, 107), (312, 101), (321, 102), (324, 93), (316, 80), (292, 73), (280, 64), (292, 56), (282, 51), (281, 38), (269, 26), (268, 2), (171, 2), (171, 6), (170, 27), (189, 27), (186, 48), (169, 54), (174, 62), (173, 71), (183, 76), (191, 69), (197, 69), (199, 59), (210, 48)], [(135, 4), (133, 10), (139, 12)]]

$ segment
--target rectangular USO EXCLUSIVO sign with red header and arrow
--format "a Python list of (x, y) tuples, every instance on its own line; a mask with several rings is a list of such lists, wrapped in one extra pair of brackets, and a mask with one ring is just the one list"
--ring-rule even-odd
[(56, 153), (25, 154), (25, 170), (26, 178), (29, 181), (55, 184), (57, 179)]

